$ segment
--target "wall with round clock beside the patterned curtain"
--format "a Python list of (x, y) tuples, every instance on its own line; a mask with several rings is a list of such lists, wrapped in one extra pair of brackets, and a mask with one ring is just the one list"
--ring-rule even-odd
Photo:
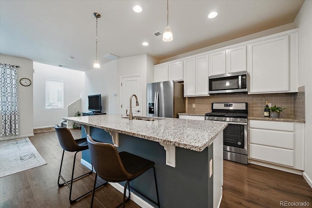
[(20, 78), (29, 78), (33, 83), (33, 61), (19, 57), (10, 57), (0, 54), (0, 62), (18, 65), (18, 90), (19, 90), (19, 119), (20, 134), (0, 137), (0, 140), (33, 136), (33, 84), (24, 87), (20, 85)]

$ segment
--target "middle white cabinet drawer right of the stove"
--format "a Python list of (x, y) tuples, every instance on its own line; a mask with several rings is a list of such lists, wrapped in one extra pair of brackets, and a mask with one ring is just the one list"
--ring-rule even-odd
[(249, 129), (249, 143), (294, 149), (294, 132)]

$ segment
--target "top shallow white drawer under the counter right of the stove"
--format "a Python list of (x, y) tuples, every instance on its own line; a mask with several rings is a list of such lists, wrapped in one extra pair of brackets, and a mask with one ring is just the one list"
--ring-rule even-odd
[(249, 128), (293, 132), (294, 131), (294, 123), (278, 122), (278, 121), (250, 120), (249, 121)]

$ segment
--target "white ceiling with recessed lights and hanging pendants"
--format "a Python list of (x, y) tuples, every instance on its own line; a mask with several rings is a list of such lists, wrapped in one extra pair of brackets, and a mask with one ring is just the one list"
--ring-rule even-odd
[[(92, 69), (113, 54), (157, 59), (292, 23), (304, 0), (169, 0), (174, 40), (153, 34), (167, 24), (166, 0), (0, 0), (0, 53), (70, 69)], [(143, 11), (135, 13), (139, 4)], [(207, 15), (217, 11), (215, 19)], [(149, 42), (142, 46), (142, 42)], [(70, 60), (68, 57), (74, 57)]]

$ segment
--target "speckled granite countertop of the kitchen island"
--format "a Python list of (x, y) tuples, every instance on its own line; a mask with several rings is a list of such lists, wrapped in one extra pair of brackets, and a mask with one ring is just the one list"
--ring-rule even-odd
[(226, 122), (161, 118), (155, 121), (129, 120), (121, 115), (64, 117), (75, 123), (161, 142), (176, 147), (203, 151), (228, 125)]

